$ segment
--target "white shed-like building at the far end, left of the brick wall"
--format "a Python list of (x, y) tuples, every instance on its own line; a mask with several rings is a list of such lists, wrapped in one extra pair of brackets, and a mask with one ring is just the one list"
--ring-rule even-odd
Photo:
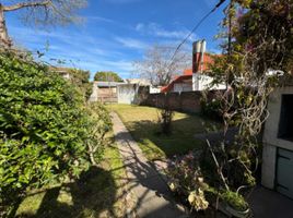
[(150, 93), (151, 84), (142, 78), (128, 78), (117, 86), (118, 104), (140, 104)]

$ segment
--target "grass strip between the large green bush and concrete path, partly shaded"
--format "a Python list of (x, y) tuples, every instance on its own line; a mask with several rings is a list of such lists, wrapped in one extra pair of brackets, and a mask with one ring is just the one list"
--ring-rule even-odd
[(105, 150), (98, 168), (79, 181), (34, 191), (20, 205), (16, 217), (124, 217), (125, 168), (115, 145)]

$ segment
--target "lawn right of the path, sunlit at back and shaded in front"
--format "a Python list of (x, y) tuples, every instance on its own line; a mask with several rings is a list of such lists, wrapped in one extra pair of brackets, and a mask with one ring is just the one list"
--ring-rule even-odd
[(196, 140), (195, 134), (220, 126), (219, 123), (197, 114), (175, 112), (173, 134), (167, 136), (157, 134), (159, 110), (155, 108), (129, 105), (108, 105), (107, 108), (119, 114), (149, 160), (164, 159), (201, 148), (202, 142)]

